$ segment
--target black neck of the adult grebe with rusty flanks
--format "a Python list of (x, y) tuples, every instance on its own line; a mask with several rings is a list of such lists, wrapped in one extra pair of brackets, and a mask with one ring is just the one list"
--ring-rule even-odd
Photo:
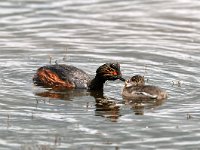
[(90, 90), (102, 90), (105, 82), (106, 80), (97, 74), (95, 78), (90, 81), (88, 87)]

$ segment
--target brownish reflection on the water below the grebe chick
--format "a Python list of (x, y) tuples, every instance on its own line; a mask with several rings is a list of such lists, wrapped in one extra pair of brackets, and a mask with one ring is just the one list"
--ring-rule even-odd
[(131, 106), (131, 109), (135, 113), (135, 115), (144, 115), (146, 110), (154, 110), (156, 107), (161, 106), (165, 99), (157, 100), (157, 99), (126, 99), (124, 98), (124, 102), (126, 105)]

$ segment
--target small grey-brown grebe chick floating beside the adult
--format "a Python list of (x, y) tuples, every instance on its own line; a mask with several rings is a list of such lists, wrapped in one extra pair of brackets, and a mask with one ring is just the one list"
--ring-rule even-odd
[(122, 92), (125, 98), (133, 99), (165, 99), (167, 93), (165, 90), (152, 85), (145, 85), (144, 77), (140, 75), (133, 76), (125, 81)]

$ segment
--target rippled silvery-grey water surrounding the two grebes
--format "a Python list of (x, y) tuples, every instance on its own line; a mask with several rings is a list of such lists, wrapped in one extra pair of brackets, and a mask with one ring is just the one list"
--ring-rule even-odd
[[(198, 0), (7, 0), (0, 2), (1, 149), (199, 149)], [(36, 87), (38, 67), (65, 63), (91, 75), (118, 61), (144, 75), (163, 101), (105, 99)]]

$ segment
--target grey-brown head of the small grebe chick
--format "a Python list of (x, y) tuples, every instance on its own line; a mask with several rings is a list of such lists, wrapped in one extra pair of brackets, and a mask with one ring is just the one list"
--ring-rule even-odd
[(144, 77), (140, 75), (135, 75), (132, 78), (125, 81), (125, 87), (143, 86), (144, 84)]

